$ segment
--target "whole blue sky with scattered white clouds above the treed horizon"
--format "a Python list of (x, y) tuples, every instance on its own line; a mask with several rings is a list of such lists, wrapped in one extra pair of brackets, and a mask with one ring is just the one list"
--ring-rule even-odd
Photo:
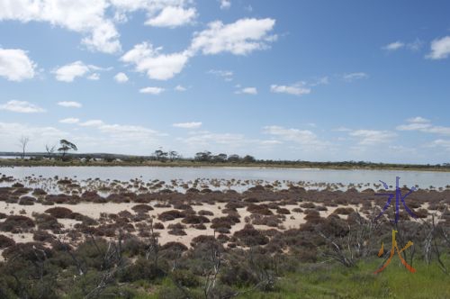
[(0, 151), (450, 162), (447, 1), (0, 0)]

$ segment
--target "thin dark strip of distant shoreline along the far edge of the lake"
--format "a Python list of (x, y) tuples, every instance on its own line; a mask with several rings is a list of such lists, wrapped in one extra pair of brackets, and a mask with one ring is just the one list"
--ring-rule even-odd
[(332, 170), (401, 170), (401, 171), (436, 171), (450, 172), (450, 167), (397, 165), (397, 164), (368, 164), (365, 166), (342, 165), (340, 162), (292, 162), (292, 163), (230, 163), (230, 162), (199, 162), (199, 161), (69, 161), (43, 159), (0, 159), (0, 167), (158, 167), (158, 168), (267, 168), (267, 169), (332, 169)]

